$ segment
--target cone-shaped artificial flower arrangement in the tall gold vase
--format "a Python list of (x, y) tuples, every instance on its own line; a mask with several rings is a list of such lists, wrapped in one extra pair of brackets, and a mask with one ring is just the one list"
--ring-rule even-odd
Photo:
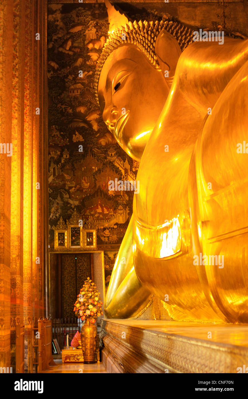
[(80, 289), (73, 310), (81, 320), (89, 317), (91, 323), (95, 323), (96, 318), (103, 314), (100, 293), (96, 288), (96, 284), (90, 280), (90, 277), (87, 278), (83, 288)]

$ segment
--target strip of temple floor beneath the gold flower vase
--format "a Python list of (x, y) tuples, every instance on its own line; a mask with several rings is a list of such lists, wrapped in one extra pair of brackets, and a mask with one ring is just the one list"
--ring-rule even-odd
[[(42, 374), (50, 373), (107, 373), (103, 363), (62, 363), (61, 355), (54, 355), (53, 360), (56, 366), (51, 366), (50, 370), (42, 371)], [(81, 371), (82, 370), (82, 371)]]

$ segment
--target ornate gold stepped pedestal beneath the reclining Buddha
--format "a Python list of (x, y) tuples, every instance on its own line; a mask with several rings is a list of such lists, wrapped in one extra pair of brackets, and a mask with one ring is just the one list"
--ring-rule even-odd
[(248, 365), (248, 325), (102, 319), (108, 373), (237, 373)]

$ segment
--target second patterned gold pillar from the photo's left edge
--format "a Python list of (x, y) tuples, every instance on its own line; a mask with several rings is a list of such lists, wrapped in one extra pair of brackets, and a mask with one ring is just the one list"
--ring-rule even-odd
[(11, 157), (11, 350), (15, 365), (16, 324), (23, 324), (23, 139), (25, 4), (14, 0)]

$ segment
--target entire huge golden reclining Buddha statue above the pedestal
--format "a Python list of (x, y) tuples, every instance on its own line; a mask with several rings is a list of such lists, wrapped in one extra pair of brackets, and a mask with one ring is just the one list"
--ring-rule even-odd
[(194, 41), (179, 22), (131, 23), (105, 4), (95, 91), (140, 161), (105, 314), (134, 317), (154, 294), (174, 320), (247, 323), (248, 41)]

